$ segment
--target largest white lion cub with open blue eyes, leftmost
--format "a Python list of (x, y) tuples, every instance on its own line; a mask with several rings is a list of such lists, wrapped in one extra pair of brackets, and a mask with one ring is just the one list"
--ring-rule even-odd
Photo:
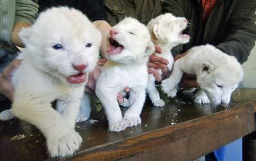
[[(67, 157), (82, 138), (74, 130), (84, 85), (98, 60), (100, 31), (81, 11), (67, 7), (41, 13), (20, 31), (24, 59), (14, 73), (12, 113), (44, 134), (51, 157)], [(62, 115), (51, 107), (65, 102)]]

